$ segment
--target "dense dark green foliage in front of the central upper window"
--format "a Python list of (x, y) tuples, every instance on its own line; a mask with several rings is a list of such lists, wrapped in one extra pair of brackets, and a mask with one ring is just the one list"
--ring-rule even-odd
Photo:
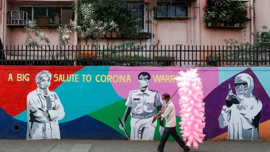
[[(78, 5), (90, 4), (87, 0), (78, 0), (77, 3)], [(119, 31), (119, 36), (123, 39), (134, 39), (138, 36), (138, 22), (142, 19), (137, 15), (139, 9), (137, 5), (129, 6), (126, 1), (120, 0), (92, 0), (91, 5), (94, 11), (89, 11), (92, 11), (91, 18), (94, 21), (114, 22), (117, 25), (108, 31)], [(78, 6), (78, 10), (80, 10), (80, 6)], [(84, 16), (82, 11), (78, 11), (78, 26), (86, 24)]]

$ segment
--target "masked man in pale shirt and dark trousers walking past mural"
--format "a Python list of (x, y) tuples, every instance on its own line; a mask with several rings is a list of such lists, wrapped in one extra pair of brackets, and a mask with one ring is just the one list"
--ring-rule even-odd
[[(176, 142), (180, 145), (180, 147), (184, 150), (184, 152), (189, 152), (190, 148), (185, 145), (182, 139), (176, 132), (176, 114), (175, 114), (175, 106), (170, 100), (170, 94), (164, 93), (162, 95), (162, 101), (166, 104), (164, 105), (164, 111), (161, 112), (160, 116), (154, 116), (154, 120), (165, 118), (166, 124), (165, 129), (162, 133), (161, 140), (159, 142), (157, 152), (163, 152), (165, 147), (165, 143), (168, 140), (169, 136), (172, 135)], [(154, 122), (153, 120), (153, 122)]]

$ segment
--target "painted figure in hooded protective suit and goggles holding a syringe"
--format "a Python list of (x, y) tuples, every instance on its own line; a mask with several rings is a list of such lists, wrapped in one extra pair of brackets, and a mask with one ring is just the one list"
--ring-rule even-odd
[(258, 127), (263, 105), (252, 94), (253, 89), (253, 78), (246, 73), (235, 77), (237, 95), (229, 88), (218, 120), (221, 128), (228, 126), (229, 140), (260, 140)]

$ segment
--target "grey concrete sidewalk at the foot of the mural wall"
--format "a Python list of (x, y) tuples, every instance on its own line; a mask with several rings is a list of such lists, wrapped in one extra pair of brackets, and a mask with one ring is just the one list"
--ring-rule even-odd
[[(155, 152), (159, 141), (124, 140), (4, 140), (0, 152)], [(204, 141), (190, 152), (269, 152), (270, 141)], [(167, 142), (164, 152), (183, 152)]]

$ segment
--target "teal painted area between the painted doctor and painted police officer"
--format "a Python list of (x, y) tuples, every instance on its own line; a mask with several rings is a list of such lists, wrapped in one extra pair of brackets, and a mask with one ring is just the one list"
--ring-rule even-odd
[(80, 76), (79, 82), (62, 83), (55, 90), (65, 111), (61, 122), (77, 119), (122, 99), (106, 80), (108, 70), (109, 66), (86, 66), (75, 73)]

